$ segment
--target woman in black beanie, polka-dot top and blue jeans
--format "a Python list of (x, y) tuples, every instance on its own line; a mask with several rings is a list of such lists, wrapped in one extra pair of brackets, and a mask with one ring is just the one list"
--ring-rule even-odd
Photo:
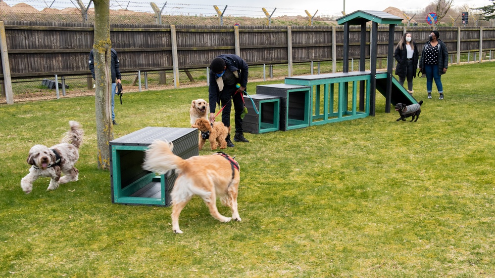
[(432, 86), (435, 79), (440, 93), (439, 99), (444, 99), (444, 87), (440, 77), (447, 72), (448, 51), (445, 43), (439, 38), (440, 34), (436, 30), (430, 34), (430, 40), (425, 43), (423, 51), (421, 51), (419, 70), (426, 74), (428, 98), (432, 98)]

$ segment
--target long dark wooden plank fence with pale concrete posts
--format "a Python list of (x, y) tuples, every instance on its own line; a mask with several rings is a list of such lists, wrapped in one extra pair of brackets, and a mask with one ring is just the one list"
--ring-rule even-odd
[[(431, 28), (396, 27), (395, 42), (406, 31), (422, 45), (428, 39)], [(370, 32), (368, 28), (367, 57)], [(479, 51), (481, 60), (483, 52), (495, 50), (495, 28), (447, 27), (439, 32), (448, 52), (457, 55), (457, 62), (464, 52)], [(0, 34), (2, 89), (10, 79), (90, 73), (88, 56), (93, 48), (92, 24), (0, 21)], [(249, 65), (288, 64), (291, 73), (293, 63), (335, 63), (342, 60), (343, 35), (341, 26), (110, 26), (112, 47), (119, 53), (120, 70), (123, 73), (206, 68), (211, 59), (224, 53), (238, 54)], [(387, 56), (388, 36), (388, 26), (379, 28), (378, 57)], [(349, 58), (358, 59), (359, 28), (350, 29), (349, 42)], [(174, 80), (174, 84), (178, 86), (178, 80)]]

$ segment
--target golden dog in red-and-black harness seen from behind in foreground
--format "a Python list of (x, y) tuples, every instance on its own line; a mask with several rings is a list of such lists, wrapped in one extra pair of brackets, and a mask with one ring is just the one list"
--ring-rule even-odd
[[(220, 222), (241, 221), (237, 210), (237, 190), (241, 180), (239, 164), (223, 153), (182, 159), (172, 153), (174, 145), (156, 140), (146, 150), (143, 168), (161, 175), (175, 170), (177, 179), (172, 190), (172, 230), (182, 234), (179, 215), (194, 195), (201, 197), (211, 216)], [(232, 217), (218, 212), (216, 198), (232, 209)]]

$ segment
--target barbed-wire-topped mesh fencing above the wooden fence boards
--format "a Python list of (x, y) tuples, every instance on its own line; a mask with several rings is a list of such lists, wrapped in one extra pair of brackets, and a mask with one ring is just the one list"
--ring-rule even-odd
[[(10, 6), (4, 0), (0, 0), (0, 20), (16, 21), (52, 21), (52, 22), (89, 22), (94, 23), (94, 9), (88, 9), (87, 17), (83, 17), (84, 11), (81, 7), (70, 0), (55, 0), (48, 7), (45, 0), (30, 0), (33, 5), (28, 5), (22, 0), (8, 0)], [(262, 11), (262, 7), (228, 5), (218, 7), (220, 10), (226, 8), (225, 14), (219, 16), (214, 5), (208, 4), (186, 4), (186, 3), (155, 3), (161, 13), (156, 14), (150, 3), (133, 1), (110, 1), (110, 23), (112, 24), (164, 24), (164, 25), (274, 25), (274, 26), (308, 26), (323, 25), (335, 26), (336, 19), (341, 17), (332, 11), (318, 10), (311, 20), (305, 10), (267, 7), (269, 11), (275, 11), (274, 16), (268, 20)], [(405, 16), (402, 11), (395, 9), (395, 15), (404, 18), (405, 26), (427, 26), (426, 17), (428, 13), (418, 12)], [(312, 11), (314, 13), (314, 11)], [(158, 20), (159, 18), (159, 20)], [(475, 14), (469, 16), (468, 23), (462, 24), (458, 16), (445, 17), (439, 26), (453, 27), (480, 27), (495, 26), (495, 21), (483, 21), (483, 17)], [(161, 22), (159, 22), (161, 20)]]

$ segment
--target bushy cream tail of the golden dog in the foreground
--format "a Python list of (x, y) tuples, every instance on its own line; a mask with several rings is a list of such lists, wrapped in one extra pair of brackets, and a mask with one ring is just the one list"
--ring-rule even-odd
[(182, 172), (187, 162), (174, 155), (173, 148), (172, 143), (155, 140), (146, 150), (143, 169), (160, 175), (171, 174), (172, 170), (175, 170), (177, 174)]

